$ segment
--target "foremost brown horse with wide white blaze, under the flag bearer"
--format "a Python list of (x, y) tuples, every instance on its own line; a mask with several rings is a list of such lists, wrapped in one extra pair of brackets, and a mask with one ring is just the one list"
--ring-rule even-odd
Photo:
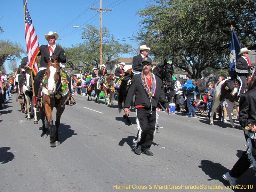
[[(43, 123), (42, 137), (47, 137), (47, 130), (44, 124), (44, 117), (46, 116), (48, 126), (50, 129), (50, 145), (60, 145), (59, 140), (59, 127), (60, 117), (65, 110), (66, 102), (68, 101), (68, 81), (66, 74), (60, 70), (60, 58), (57, 60), (48, 60), (44, 57), (44, 61), (48, 64), (45, 70), (45, 75), (42, 82), (42, 106), (39, 108), (41, 120)], [(52, 127), (52, 109), (56, 108), (56, 131), (53, 135)], [(54, 138), (55, 137), (55, 138)]]

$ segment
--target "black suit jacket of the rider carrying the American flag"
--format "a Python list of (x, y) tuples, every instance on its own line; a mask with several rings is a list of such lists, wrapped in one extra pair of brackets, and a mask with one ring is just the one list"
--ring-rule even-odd
[[(44, 62), (44, 57), (46, 57), (47, 59), (50, 59), (50, 52), (49, 52), (48, 44), (41, 45), (39, 47), (39, 51), (40, 52), (38, 53), (38, 55), (41, 55), (40, 67), (47, 67), (47, 63)], [(55, 47), (53, 55), (60, 57), (61, 63), (66, 63), (67, 60), (66, 60), (65, 52), (60, 47), (58, 47), (58, 46)]]

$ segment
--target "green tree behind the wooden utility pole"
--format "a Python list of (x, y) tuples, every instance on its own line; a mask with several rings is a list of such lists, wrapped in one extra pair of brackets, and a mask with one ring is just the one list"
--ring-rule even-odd
[[(83, 43), (64, 48), (67, 67), (83, 73), (89, 73), (94, 67), (99, 68), (100, 64), (100, 37), (96, 35), (99, 34), (99, 30), (92, 25), (87, 25), (86, 28), (91, 31), (84, 29), (81, 34), (84, 39)], [(108, 28), (102, 28), (102, 63), (117, 59), (120, 54), (130, 52), (132, 52), (130, 44), (115, 42), (115, 37), (110, 34)]]

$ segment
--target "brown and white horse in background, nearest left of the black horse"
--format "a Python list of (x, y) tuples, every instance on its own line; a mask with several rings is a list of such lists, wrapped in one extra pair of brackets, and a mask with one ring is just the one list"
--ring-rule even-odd
[[(102, 77), (101, 79), (104, 83), (101, 86), (101, 89), (97, 88), (97, 83), (94, 83), (94, 90), (96, 92), (96, 102), (100, 103), (100, 91), (102, 90), (105, 93), (106, 99), (105, 99), (105, 104), (109, 105), (111, 107), (111, 99), (114, 96), (114, 86), (113, 86), (113, 81), (114, 81), (114, 74), (110, 74), (107, 78), (106, 76)], [(113, 81), (112, 81), (113, 80)], [(99, 80), (100, 81), (100, 80)], [(112, 85), (111, 85), (112, 81)], [(108, 98), (108, 93), (109, 93), (109, 98)]]

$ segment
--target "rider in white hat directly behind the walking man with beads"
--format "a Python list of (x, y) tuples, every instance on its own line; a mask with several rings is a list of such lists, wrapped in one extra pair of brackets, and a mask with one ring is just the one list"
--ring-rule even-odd
[(140, 74), (140, 72), (142, 71), (142, 69), (143, 69), (143, 67), (141, 65), (142, 59), (148, 57), (147, 56), (148, 50), (150, 50), (150, 48), (147, 47), (147, 45), (141, 45), (140, 49), (137, 50), (137, 51), (140, 51), (140, 54), (133, 57), (132, 72), (134, 73), (134, 75)]

